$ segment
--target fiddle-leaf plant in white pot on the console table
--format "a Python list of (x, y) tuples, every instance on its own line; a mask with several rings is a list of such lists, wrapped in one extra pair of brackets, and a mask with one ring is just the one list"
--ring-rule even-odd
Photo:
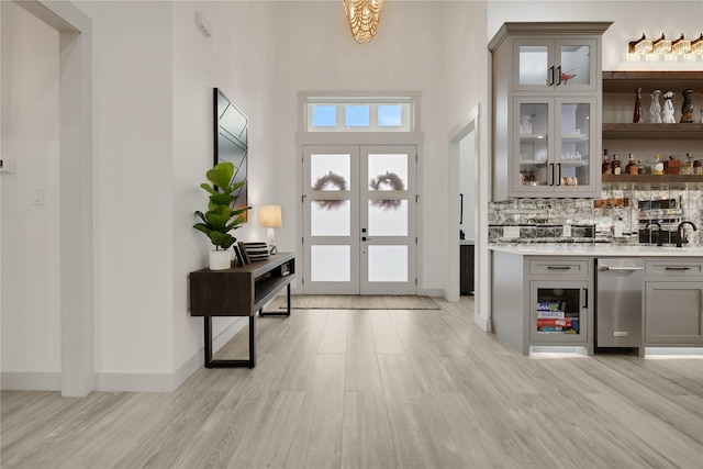
[(234, 165), (230, 161), (219, 163), (205, 176), (210, 183), (203, 182), (200, 187), (210, 193), (210, 202), (205, 213), (196, 211), (196, 215), (202, 220), (202, 223), (196, 223), (193, 228), (208, 235), (215, 246), (210, 252), (210, 269), (228, 269), (230, 247), (237, 241), (230, 232), (238, 228), (246, 221), (244, 213), (250, 209), (245, 206), (235, 210), (238, 196), (234, 196), (234, 192), (246, 182), (233, 182)]

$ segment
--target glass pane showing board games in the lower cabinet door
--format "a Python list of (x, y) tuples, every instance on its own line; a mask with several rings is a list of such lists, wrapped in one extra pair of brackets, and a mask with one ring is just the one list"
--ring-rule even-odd
[(537, 334), (581, 333), (581, 289), (537, 289)]

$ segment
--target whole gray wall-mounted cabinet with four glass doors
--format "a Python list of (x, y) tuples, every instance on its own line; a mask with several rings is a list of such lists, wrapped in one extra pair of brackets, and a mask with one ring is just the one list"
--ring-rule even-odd
[(609, 22), (505, 23), (492, 53), (493, 200), (600, 196)]

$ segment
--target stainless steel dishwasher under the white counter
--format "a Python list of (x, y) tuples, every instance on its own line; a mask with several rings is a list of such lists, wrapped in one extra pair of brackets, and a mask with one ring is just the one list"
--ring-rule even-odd
[(643, 260), (607, 257), (595, 263), (595, 347), (641, 347)]

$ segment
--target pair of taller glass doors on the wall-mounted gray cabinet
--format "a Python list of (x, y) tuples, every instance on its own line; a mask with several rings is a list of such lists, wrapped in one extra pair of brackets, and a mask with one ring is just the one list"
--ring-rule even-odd
[(598, 190), (594, 98), (515, 98), (512, 192), (588, 197)]

